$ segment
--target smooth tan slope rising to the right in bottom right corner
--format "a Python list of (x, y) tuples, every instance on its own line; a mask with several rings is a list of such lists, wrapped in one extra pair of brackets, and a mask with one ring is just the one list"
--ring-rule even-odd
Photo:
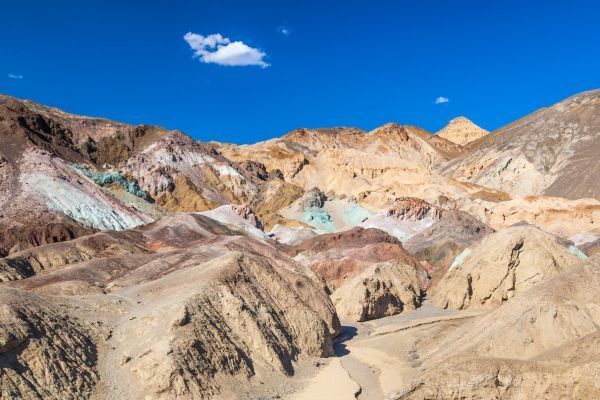
[(394, 399), (600, 396), (600, 259), (425, 339), (422, 374)]

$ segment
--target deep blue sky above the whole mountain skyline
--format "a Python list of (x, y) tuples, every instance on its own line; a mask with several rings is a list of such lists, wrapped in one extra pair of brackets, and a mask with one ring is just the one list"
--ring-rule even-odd
[(597, 1), (4, 3), (0, 92), (200, 140), (458, 115), (492, 130), (600, 87)]

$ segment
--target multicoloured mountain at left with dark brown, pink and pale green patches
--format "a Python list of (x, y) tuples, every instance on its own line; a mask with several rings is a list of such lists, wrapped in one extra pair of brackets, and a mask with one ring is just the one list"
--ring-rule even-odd
[(0, 255), (174, 211), (242, 203), (267, 180), (177, 131), (0, 97)]

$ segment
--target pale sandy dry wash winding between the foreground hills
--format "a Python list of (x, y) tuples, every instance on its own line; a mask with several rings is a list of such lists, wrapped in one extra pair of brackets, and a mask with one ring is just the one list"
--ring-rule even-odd
[(475, 315), (440, 309), (425, 302), (415, 311), (392, 317), (358, 323), (342, 321), (342, 334), (334, 344), (336, 358), (295, 398), (309, 398), (321, 390), (334, 393), (331, 399), (384, 399), (408, 383), (420, 365), (414, 347), (419, 339), (417, 328)]

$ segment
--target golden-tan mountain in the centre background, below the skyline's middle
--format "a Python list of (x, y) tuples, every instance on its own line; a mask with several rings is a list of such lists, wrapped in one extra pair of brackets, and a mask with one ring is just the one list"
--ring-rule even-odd
[(233, 161), (254, 160), (279, 170), (285, 181), (304, 190), (318, 187), (366, 208), (381, 208), (399, 196), (434, 198), (463, 190), (435, 172), (462, 152), (460, 146), (394, 123), (372, 131), (298, 129), (280, 139), (219, 150)]

